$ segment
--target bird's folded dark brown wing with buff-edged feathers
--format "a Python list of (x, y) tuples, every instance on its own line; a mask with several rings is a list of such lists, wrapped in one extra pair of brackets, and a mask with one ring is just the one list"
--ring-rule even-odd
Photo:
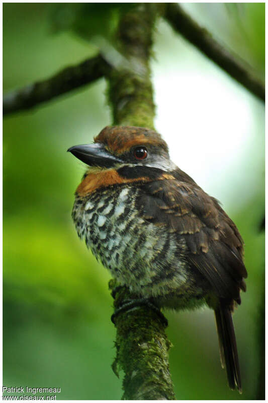
[(178, 241), (185, 240), (187, 261), (210, 282), (218, 297), (240, 303), (247, 276), (241, 235), (218, 201), (184, 175), (141, 185), (137, 208), (144, 219), (165, 226)]

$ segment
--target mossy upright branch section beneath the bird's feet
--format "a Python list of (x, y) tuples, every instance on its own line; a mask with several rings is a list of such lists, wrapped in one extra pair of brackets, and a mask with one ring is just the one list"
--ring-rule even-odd
[[(135, 298), (127, 287), (111, 280), (115, 308)], [(159, 315), (148, 306), (122, 312), (115, 319), (116, 358), (112, 368), (117, 376), (124, 372), (123, 400), (174, 400), (169, 373), (168, 350), (171, 343)]]

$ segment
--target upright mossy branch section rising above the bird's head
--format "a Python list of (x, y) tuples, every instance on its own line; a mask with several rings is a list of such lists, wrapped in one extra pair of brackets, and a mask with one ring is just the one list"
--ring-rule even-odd
[(154, 127), (149, 59), (157, 12), (155, 4), (141, 3), (120, 20), (117, 45), (123, 62), (111, 71), (108, 88), (114, 124)]

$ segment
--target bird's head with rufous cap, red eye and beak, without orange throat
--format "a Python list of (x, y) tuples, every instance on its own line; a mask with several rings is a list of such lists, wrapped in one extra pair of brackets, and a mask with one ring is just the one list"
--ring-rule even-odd
[(94, 144), (68, 149), (89, 167), (120, 169), (151, 167), (169, 171), (168, 147), (156, 131), (135, 126), (107, 126)]

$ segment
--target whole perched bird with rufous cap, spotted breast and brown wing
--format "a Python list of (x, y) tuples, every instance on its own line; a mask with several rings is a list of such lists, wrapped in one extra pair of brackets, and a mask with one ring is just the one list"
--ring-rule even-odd
[(158, 308), (212, 308), (222, 367), (241, 393), (232, 314), (246, 291), (244, 244), (219, 201), (170, 160), (150, 128), (106, 126), (93, 144), (67, 151), (87, 165), (72, 210), (79, 238)]

